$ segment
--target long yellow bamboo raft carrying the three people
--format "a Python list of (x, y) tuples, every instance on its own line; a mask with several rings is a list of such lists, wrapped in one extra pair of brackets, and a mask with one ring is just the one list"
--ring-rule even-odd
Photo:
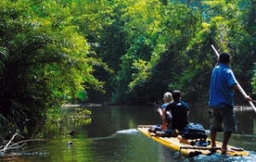
[[(191, 145), (193, 140), (185, 140), (185, 139), (182, 139), (181, 136), (177, 136), (177, 137), (154, 136), (154, 133), (148, 131), (148, 128), (150, 128), (150, 126), (152, 125), (138, 125), (137, 130), (141, 131), (143, 135), (150, 137), (154, 141), (160, 142), (166, 147), (179, 151), (180, 153), (183, 153), (188, 157), (194, 157), (199, 154), (211, 155), (212, 153), (223, 153), (220, 151), (220, 148), (222, 145), (220, 142), (216, 142), (217, 144), (216, 148), (212, 148), (211, 146), (197, 147), (195, 145)], [(210, 142), (210, 139), (207, 139), (207, 141)], [(232, 146), (228, 146), (228, 148), (231, 148), (235, 151), (234, 153), (226, 152), (226, 154), (230, 156), (247, 156), (248, 155), (248, 153), (244, 151), (242, 148), (235, 148)]]

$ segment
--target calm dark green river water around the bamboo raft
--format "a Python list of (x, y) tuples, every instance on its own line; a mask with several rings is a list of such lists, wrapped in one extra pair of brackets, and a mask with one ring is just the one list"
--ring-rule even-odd
[[(256, 113), (247, 107), (236, 108), (238, 130), (230, 145), (244, 148), (247, 157), (213, 154), (187, 158), (158, 142), (143, 136), (137, 125), (159, 124), (156, 107), (81, 107), (91, 111), (90, 118), (66, 119), (66, 124), (52, 124), (46, 141), (27, 142), (26, 148), (0, 154), (3, 162), (137, 162), (137, 161), (255, 161)], [(62, 113), (73, 113), (75, 107), (63, 107)], [(190, 107), (189, 122), (209, 129), (205, 107)], [(74, 136), (67, 135), (74, 130)], [(218, 134), (218, 141), (222, 140)], [(72, 142), (72, 145), (67, 145)]]

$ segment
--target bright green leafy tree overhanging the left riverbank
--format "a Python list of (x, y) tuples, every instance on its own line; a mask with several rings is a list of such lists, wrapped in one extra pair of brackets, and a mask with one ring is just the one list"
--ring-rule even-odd
[[(95, 66), (108, 67), (88, 55), (90, 46), (73, 20), (76, 3), (3, 0), (0, 18), (0, 120), (3, 130), (44, 120), (49, 110), (79, 92), (102, 90)], [(4, 50), (3, 50), (4, 49)]]

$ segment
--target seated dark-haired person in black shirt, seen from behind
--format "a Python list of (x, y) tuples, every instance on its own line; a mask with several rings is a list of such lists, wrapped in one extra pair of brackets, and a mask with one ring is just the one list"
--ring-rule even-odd
[[(167, 111), (172, 113), (172, 129), (183, 131), (184, 127), (189, 124), (189, 105), (181, 101), (181, 93), (179, 90), (172, 92), (173, 102), (170, 103), (164, 110), (163, 114)], [(163, 125), (163, 130), (166, 130), (166, 126)]]

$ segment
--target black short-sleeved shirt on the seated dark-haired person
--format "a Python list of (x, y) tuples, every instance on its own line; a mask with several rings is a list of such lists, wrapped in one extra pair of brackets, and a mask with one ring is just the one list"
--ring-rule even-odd
[(189, 107), (183, 101), (173, 101), (166, 107), (166, 111), (172, 112), (172, 129), (183, 130), (189, 124)]

